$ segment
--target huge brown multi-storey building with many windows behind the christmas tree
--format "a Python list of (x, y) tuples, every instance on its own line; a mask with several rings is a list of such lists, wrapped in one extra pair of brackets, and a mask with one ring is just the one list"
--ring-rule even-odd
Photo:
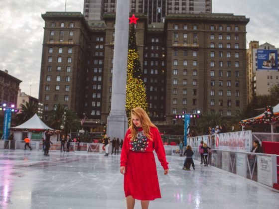
[[(247, 104), (245, 16), (169, 14), (136, 25), (150, 118), (175, 124), (197, 110), (235, 115)], [(64, 104), (86, 123), (105, 124), (111, 108), (115, 13), (86, 21), (79, 12), (46, 12), (39, 101)], [(103, 24), (103, 25), (102, 25)], [(102, 25), (102, 26), (101, 26)]]

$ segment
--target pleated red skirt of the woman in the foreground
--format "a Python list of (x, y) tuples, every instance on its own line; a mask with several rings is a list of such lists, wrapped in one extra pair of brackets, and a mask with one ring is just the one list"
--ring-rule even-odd
[(153, 152), (129, 152), (124, 192), (125, 197), (143, 201), (161, 198)]

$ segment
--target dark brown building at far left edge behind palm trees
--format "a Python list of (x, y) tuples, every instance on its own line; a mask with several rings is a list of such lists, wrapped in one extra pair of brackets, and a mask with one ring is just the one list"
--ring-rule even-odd
[(0, 70), (0, 104), (10, 106), (17, 104), (19, 84), (22, 81), (8, 74), (7, 70)]

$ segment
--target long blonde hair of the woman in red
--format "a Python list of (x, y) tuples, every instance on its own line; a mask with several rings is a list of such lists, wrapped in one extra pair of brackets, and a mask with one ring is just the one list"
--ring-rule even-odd
[[(141, 107), (136, 107), (136, 108), (132, 109), (131, 117), (132, 117), (132, 115), (139, 117), (141, 125), (142, 125), (142, 129), (143, 129), (143, 133), (150, 141), (153, 141), (153, 139), (152, 139), (153, 135), (152, 134), (151, 134), (151, 136), (149, 135), (150, 127), (156, 127), (156, 126), (151, 122), (150, 118), (148, 117), (148, 115), (144, 111), (144, 109), (142, 109)], [(131, 125), (129, 128), (131, 131), (131, 134), (129, 134), (129, 137), (131, 137), (131, 140), (133, 141), (136, 138), (137, 126), (133, 123), (132, 119), (131, 119)]]

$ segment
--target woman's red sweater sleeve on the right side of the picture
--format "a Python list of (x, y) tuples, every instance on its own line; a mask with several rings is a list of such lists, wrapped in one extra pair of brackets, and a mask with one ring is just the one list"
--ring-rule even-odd
[(152, 133), (153, 133), (154, 149), (155, 152), (157, 153), (158, 160), (160, 161), (161, 166), (164, 169), (168, 169), (167, 166), (168, 162), (166, 162), (166, 158), (165, 158), (165, 149), (159, 131), (157, 128), (152, 128), (152, 130), (153, 130)]

